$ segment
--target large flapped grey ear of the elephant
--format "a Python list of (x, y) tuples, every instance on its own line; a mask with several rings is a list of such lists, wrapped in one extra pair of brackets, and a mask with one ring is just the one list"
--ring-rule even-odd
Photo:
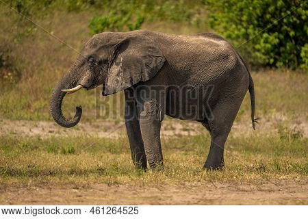
[(147, 36), (128, 36), (114, 47), (103, 95), (114, 94), (156, 75), (165, 62), (162, 51)]

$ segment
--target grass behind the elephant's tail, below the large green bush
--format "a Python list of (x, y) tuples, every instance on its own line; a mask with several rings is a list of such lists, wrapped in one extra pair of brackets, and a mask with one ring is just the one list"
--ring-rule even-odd
[[(286, 120), (307, 119), (308, 75), (292, 70), (258, 70), (252, 74), (255, 84), (256, 115), (262, 120), (280, 116)], [(247, 92), (237, 120), (251, 111)], [(243, 116), (244, 115), (244, 116)]]

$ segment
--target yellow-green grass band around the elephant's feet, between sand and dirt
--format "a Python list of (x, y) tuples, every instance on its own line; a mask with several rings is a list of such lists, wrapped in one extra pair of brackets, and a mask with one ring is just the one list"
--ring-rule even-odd
[(205, 172), (209, 137), (163, 140), (165, 168), (136, 170), (127, 138), (16, 138), (0, 139), (0, 183), (57, 185), (181, 184), (197, 182), (266, 183), (268, 179), (307, 177), (307, 138), (289, 133), (274, 136), (232, 137), (227, 142), (224, 172)]

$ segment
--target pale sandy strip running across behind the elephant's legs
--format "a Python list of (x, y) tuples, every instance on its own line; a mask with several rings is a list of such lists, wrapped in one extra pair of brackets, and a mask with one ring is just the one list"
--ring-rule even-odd
[[(257, 126), (257, 130), (253, 131), (249, 120), (244, 123), (233, 124), (231, 135), (233, 136), (249, 136), (249, 135), (270, 135), (277, 133), (277, 123), (262, 121)], [(114, 124), (111, 121), (95, 121), (94, 123), (79, 123), (76, 127), (65, 129), (54, 122), (49, 121), (28, 121), (28, 120), (0, 120), (0, 136), (8, 134), (16, 136), (40, 136), (47, 138), (49, 136), (97, 136), (105, 138), (114, 138), (118, 136), (126, 136), (125, 124), (120, 122)], [(290, 129), (300, 129), (303, 136), (308, 137), (308, 124), (300, 123), (290, 125)], [(164, 120), (162, 123), (162, 136), (194, 136), (207, 132), (201, 123), (182, 120)]]

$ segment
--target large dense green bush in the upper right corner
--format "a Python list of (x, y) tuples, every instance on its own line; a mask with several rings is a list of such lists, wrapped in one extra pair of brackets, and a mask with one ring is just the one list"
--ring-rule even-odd
[(253, 64), (307, 70), (307, 1), (205, 3), (210, 27), (245, 51)]

